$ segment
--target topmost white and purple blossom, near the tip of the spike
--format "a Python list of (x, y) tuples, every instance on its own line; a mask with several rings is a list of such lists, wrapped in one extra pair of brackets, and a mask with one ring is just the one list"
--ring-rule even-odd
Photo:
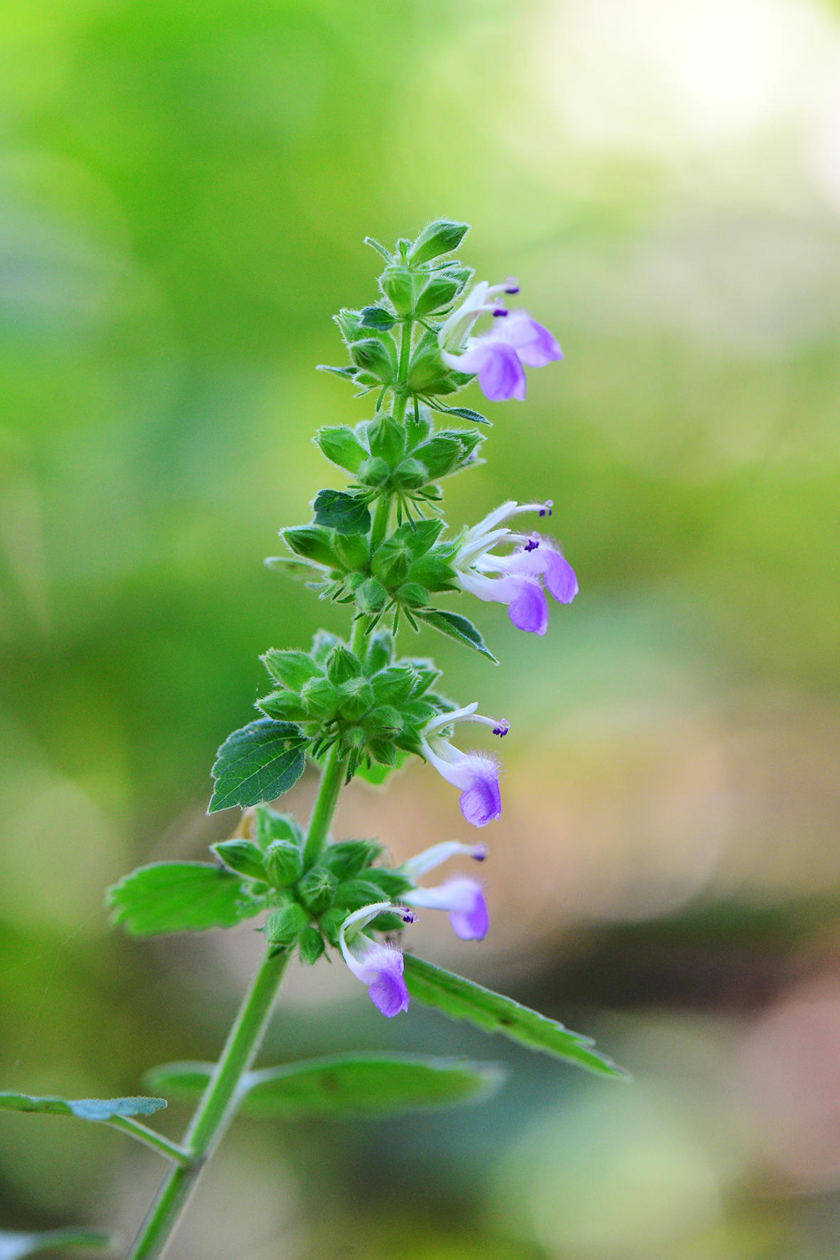
[[(484, 397), (491, 402), (525, 398), (522, 364), (544, 368), (563, 358), (551, 333), (531, 319), (527, 311), (508, 311), (496, 301), (499, 294), (518, 291), (513, 278), (503, 285), (488, 285), (482, 280), (438, 333), (440, 358), (446, 367), (475, 373)], [(492, 315), (493, 325), (481, 336), (469, 336), (479, 315)]]

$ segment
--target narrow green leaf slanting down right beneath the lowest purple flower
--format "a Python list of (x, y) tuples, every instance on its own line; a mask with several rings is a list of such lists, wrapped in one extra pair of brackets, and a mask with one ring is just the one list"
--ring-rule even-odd
[(627, 1079), (622, 1067), (593, 1048), (592, 1037), (570, 1032), (556, 1019), (530, 1011), (513, 998), (505, 998), (412, 954), (404, 955), (404, 966), (410, 995), (450, 1019), (468, 1019), (484, 1032), (501, 1032), (528, 1050), (541, 1050), (600, 1076)]

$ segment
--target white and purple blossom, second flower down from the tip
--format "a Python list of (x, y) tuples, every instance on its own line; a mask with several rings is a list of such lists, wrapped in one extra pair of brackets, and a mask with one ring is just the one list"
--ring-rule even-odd
[[(523, 512), (551, 515), (546, 503), (503, 503), (468, 529), (453, 567), (460, 586), (479, 600), (507, 604), (508, 616), (518, 630), (544, 635), (549, 627), (546, 590), (559, 604), (571, 604), (578, 578), (560, 548), (542, 534), (518, 534), (502, 525)], [(493, 554), (493, 547), (515, 543), (508, 556)]]

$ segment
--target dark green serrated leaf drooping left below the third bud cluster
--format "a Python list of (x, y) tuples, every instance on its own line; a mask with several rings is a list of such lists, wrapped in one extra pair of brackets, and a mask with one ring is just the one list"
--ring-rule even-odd
[(260, 805), (289, 791), (304, 771), (306, 740), (294, 722), (259, 718), (228, 735), (216, 753), (216, 790), (207, 810)]

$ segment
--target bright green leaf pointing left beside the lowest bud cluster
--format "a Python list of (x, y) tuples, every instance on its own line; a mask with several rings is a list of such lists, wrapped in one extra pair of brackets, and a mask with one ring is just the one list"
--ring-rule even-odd
[(242, 905), (242, 881), (207, 862), (155, 862), (108, 888), (111, 922), (132, 936), (232, 927), (256, 908)]

